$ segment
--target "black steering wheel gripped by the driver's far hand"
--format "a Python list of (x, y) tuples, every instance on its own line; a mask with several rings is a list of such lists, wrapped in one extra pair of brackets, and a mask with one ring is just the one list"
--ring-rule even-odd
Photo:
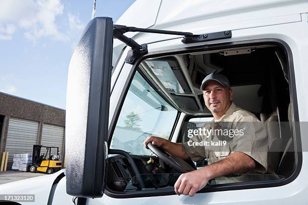
[(175, 170), (177, 170), (179, 173), (186, 173), (195, 170), (192, 166), (190, 166), (187, 162), (185, 162), (183, 159), (176, 157), (176, 156), (168, 156), (168, 154), (153, 145), (151, 142), (147, 144), (147, 147), (154, 153), (156, 154), (161, 160), (164, 161), (164, 163), (168, 164)]

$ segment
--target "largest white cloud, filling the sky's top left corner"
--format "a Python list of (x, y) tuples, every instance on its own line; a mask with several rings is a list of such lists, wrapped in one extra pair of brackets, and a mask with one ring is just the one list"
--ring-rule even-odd
[[(56, 18), (63, 15), (60, 0), (0, 0), (0, 39), (9, 40), (23, 29), (34, 43), (40, 38), (68, 41), (67, 32), (60, 32)], [(79, 18), (68, 17), (71, 26), (80, 28)]]

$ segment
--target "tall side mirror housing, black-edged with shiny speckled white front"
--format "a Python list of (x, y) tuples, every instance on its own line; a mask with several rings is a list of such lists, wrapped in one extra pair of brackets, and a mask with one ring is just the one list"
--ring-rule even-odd
[(111, 18), (87, 25), (68, 70), (66, 95), (66, 192), (101, 197), (105, 188), (110, 79)]

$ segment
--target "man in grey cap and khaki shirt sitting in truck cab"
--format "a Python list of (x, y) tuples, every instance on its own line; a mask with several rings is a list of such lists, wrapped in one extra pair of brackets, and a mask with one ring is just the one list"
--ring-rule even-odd
[[(174, 185), (179, 195), (193, 196), (210, 179), (228, 174), (267, 171), (266, 130), (254, 114), (234, 104), (233, 90), (227, 77), (211, 73), (203, 79), (201, 90), (205, 105), (214, 117), (203, 126), (203, 132), (193, 135), (183, 144), (154, 136), (148, 136), (144, 141), (146, 148), (151, 142), (184, 160), (199, 161), (207, 158), (207, 166), (180, 175)], [(229, 132), (228, 136), (221, 136), (222, 132), (216, 132), (226, 127), (229, 131), (233, 130), (232, 135)]]

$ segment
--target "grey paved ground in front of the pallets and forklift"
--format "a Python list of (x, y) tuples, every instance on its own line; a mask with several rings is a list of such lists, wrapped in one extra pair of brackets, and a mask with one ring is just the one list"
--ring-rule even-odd
[(18, 181), (18, 180), (32, 178), (36, 176), (42, 176), (42, 175), (46, 175), (46, 174), (23, 172), (23, 171), (0, 172), (0, 184), (5, 184), (5, 183), (12, 182), (12, 181)]

